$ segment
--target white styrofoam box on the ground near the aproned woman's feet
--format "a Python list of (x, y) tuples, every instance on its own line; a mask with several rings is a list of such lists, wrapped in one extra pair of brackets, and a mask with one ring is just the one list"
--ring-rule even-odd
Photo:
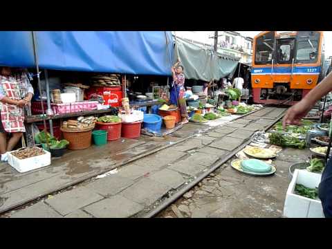
[(8, 163), (15, 168), (18, 172), (24, 173), (33, 169), (39, 169), (50, 165), (50, 152), (44, 150), (46, 154), (40, 156), (34, 156), (32, 158), (19, 159), (8, 152)]

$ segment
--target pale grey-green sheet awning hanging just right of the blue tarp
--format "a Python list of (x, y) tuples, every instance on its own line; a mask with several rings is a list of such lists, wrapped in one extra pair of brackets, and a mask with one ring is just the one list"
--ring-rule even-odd
[(187, 79), (210, 81), (213, 77), (214, 80), (219, 80), (234, 73), (237, 68), (237, 59), (214, 54), (211, 63), (211, 53), (210, 48), (203, 48), (176, 38), (174, 59), (180, 56)]

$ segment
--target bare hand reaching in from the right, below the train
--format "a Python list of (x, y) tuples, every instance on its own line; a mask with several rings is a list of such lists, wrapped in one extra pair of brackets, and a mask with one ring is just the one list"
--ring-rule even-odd
[(301, 124), (301, 119), (313, 108), (313, 104), (308, 100), (303, 99), (302, 101), (295, 104), (295, 106), (288, 109), (286, 115), (282, 119), (282, 126), (286, 128), (287, 124)]

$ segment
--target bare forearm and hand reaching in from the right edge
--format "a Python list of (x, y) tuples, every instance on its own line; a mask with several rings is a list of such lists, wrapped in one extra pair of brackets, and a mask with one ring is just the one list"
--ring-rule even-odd
[(329, 73), (320, 84), (317, 84), (314, 89), (309, 91), (300, 102), (288, 109), (282, 120), (282, 125), (284, 127), (286, 127), (286, 124), (299, 125), (301, 119), (313, 108), (315, 102), (330, 91), (332, 91), (332, 73)]

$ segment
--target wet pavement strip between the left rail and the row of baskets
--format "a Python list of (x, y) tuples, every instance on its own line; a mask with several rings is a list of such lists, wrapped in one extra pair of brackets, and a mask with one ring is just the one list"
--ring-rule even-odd
[[(225, 117), (223, 122), (234, 118), (239, 116)], [(93, 145), (80, 151), (68, 150), (62, 158), (52, 158), (50, 166), (26, 173), (19, 173), (8, 163), (1, 163), (0, 213), (172, 146), (204, 129), (210, 128), (189, 123), (170, 136), (120, 138), (102, 147)]]

